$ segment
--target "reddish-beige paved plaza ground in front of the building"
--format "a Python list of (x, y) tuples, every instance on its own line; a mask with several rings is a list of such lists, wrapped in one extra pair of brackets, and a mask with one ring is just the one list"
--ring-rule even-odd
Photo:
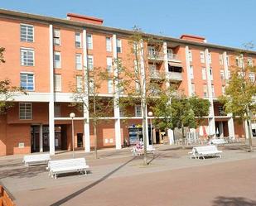
[[(254, 141), (254, 145), (255, 145)], [(29, 205), (197, 205), (256, 206), (256, 152), (242, 143), (219, 146), (223, 158), (190, 159), (191, 146), (157, 146), (150, 164), (131, 148), (94, 153), (76, 151), (88, 175), (48, 176), (46, 165), (25, 167), (22, 156), (0, 157), (0, 184), (17, 206)], [(71, 158), (62, 152), (54, 160)]]

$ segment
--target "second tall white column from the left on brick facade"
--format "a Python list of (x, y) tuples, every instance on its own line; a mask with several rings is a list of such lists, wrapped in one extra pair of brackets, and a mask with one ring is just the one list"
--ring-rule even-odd
[(84, 142), (85, 152), (90, 151), (89, 139), (89, 85), (88, 85), (88, 71), (87, 71), (87, 44), (86, 44), (86, 30), (83, 30), (83, 67), (85, 76), (85, 99), (84, 99)]

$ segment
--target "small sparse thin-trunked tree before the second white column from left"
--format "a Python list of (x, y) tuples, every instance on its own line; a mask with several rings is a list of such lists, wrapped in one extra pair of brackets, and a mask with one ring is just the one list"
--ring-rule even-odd
[[(97, 146), (97, 126), (104, 117), (108, 117), (113, 113), (112, 98), (103, 98), (99, 96), (99, 89), (102, 85), (102, 69), (101, 68), (85, 68), (84, 75), (76, 75), (76, 85), (72, 86), (73, 99), (80, 112), (85, 110), (89, 113), (89, 119), (92, 120), (94, 127), (94, 152), (95, 158), (98, 158)], [(89, 122), (89, 119), (85, 121)], [(104, 120), (106, 121), (106, 120)]]

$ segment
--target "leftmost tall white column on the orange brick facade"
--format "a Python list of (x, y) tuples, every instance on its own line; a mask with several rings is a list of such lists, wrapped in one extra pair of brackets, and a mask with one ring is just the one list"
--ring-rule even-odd
[(53, 29), (49, 26), (50, 52), (50, 100), (49, 100), (49, 144), (50, 155), (55, 155), (55, 128), (54, 128), (54, 69), (53, 69)]

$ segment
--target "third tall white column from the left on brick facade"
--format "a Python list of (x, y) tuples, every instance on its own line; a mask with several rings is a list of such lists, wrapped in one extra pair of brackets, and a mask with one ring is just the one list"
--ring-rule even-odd
[[(114, 58), (114, 77), (118, 77), (118, 68), (116, 65), (116, 60), (118, 59), (117, 52), (117, 36), (113, 35), (113, 58)], [(118, 79), (119, 80), (119, 79)], [(115, 79), (114, 81), (114, 132), (115, 132), (115, 148), (117, 150), (122, 148), (121, 142), (121, 123), (120, 123), (120, 108), (119, 108), (119, 91), (118, 91), (118, 81)]]

